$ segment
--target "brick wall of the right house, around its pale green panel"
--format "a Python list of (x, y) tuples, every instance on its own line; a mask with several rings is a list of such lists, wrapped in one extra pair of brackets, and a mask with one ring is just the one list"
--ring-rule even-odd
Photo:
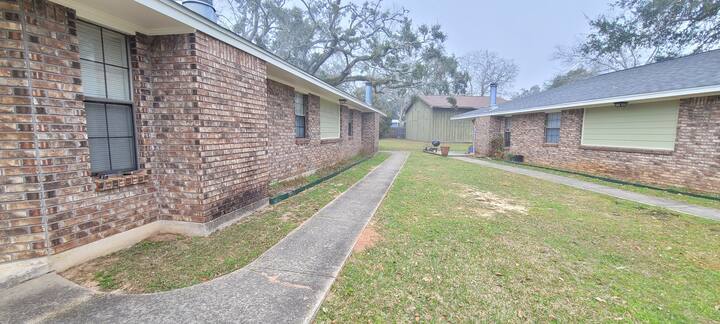
[(534, 164), (720, 192), (720, 97), (681, 100), (675, 151), (670, 153), (583, 148), (582, 116), (580, 109), (562, 112), (557, 145), (544, 144), (544, 113), (513, 116), (508, 151)]

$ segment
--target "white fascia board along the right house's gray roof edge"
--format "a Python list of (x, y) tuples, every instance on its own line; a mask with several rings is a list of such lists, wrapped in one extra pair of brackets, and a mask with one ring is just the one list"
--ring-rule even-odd
[(458, 119), (471, 119), (471, 118), (485, 117), (485, 116), (511, 116), (511, 115), (527, 114), (527, 113), (532, 113), (532, 112), (562, 110), (562, 109), (569, 109), (569, 108), (595, 108), (595, 107), (607, 106), (607, 105), (611, 105), (616, 102), (624, 102), (624, 101), (636, 102), (636, 103), (637, 102), (652, 102), (652, 101), (661, 101), (661, 100), (691, 98), (691, 97), (697, 97), (700, 95), (708, 96), (708, 95), (714, 95), (714, 94), (720, 94), (720, 85), (697, 87), (697, 88), (687, 88), (687, 89), (680, 89), (680, 90), (651, 92), (651, 93), (643, 93), (643, 94), (637, 94), (637, 95), (618, 96), (618, 97), (593, 99), (593, 100), (585, 100), (585, 101), (575, 101), (575, 102), (568, 102), (568, 103), (549, 105), (549, 106), (541, 106), (541, 107), (533, 107), (533, 108), (527, 108), (527, 109), (515, 110), (515, 111), (488, 112), (488, 113), (484, 113), (484, 114), (478, 114), (478, 115), (474, 115), (474, 116), (466, 116), (466, 117), (460, 117), (460, 118), (452, 117), (450, 119), (458, 120)]

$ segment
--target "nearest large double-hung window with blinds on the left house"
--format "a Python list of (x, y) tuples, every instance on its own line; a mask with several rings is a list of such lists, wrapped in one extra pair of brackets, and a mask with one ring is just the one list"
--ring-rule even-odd
[(137, 168), (125, 35), (79, 21), (80, 70), (93, 174)]

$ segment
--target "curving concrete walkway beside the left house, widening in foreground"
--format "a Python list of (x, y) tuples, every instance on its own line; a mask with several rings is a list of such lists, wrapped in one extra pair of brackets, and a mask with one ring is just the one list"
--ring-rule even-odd
[(92, 293), (56, 274), (0, 291), (0, 322), (307, 323), (402, 168), (395, 152), (246, 267), (169, 292)]

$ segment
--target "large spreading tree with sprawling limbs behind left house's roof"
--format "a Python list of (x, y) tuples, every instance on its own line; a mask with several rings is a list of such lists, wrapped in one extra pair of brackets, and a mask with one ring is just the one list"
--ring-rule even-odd
[(326, 82), (352, 90), (464, 92), (468, 76), (444, 49), (439, 25), (413, 25), (382, 0), (227, 0), (222, 22)]

